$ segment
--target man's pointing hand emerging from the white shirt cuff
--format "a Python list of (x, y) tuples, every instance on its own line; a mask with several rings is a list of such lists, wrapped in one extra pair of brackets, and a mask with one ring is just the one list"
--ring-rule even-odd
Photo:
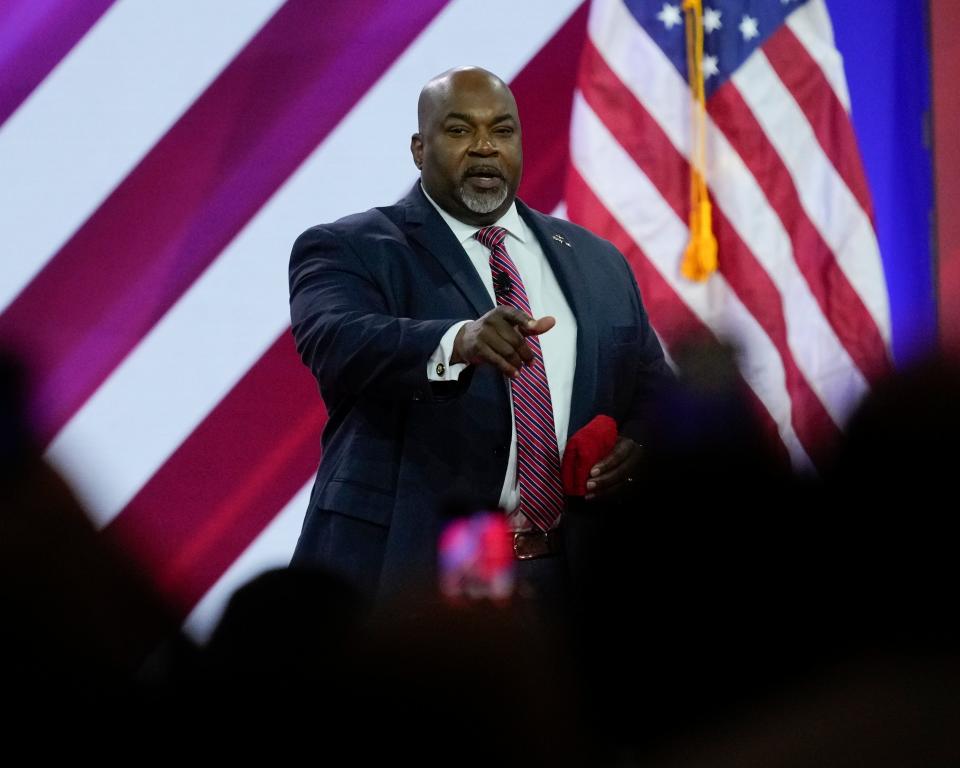
[(495, 307), (460, 329), (453, 342), (450, 362), (486, 363), (499, 368), (504, 376), (515, 379), (522, 366), (534, 362), (533, 350), (526, 337), (539, 336), (556, 323), (550, 315), (535, 320), (516, 307)]

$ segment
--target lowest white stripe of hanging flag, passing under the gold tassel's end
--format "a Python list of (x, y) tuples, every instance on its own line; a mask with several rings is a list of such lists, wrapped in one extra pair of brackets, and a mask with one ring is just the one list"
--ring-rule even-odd
[(684, 304), (718, 336), (737, 346), (744, 379), (776, 422), (794, 464), (809, 467), (809, 457), (793, 429), (786, 377), (776, 347), (722, 275), (715, 274), (706, 283), (680, 277), (680, 258), (689, 235), (686, 224), (580, 93), (574, 100), (571, 152), (584, 181)]

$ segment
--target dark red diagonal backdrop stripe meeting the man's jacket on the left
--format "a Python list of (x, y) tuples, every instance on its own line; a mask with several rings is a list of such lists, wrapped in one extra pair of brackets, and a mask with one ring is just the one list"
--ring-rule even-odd
[(185, 615), (316, 470), (325, 421), (284, 334), (107, 533)]

